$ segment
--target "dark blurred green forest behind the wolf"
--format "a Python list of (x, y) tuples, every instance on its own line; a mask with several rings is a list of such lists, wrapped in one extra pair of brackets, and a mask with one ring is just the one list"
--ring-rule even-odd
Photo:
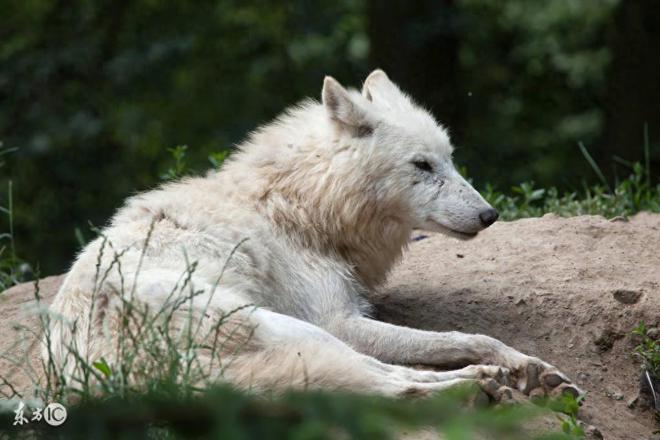
[[(655, 0), (0, 0), (2, 192), (16, 244), (62, 271), (168, 148), (196, 172), (323, 76), (375, 67), (450, 127), (477, 187), (573, 190), (642, 161), (660, 172)], [(654, 179), (657, 180), (657, 179)], [(6, 206), (6, 195), (0, 205)], [(6, 223), (3, 218), (2, 222)], [(6, 230), (5, 224), (0, 224)]]

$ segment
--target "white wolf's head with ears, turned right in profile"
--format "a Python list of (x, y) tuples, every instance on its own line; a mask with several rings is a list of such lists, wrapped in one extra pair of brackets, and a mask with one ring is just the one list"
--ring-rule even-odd
[(322, 97), (337, 136), (378, 156), (365, 162), (379, 169), (365, 173), (378, 176), (380, 197), (404, 201), (413, 227), (463, 238), (497, 220), (497, 211), (456, 171), (447, 131), (385, 72), (372, 72), (362, 93), (326, 77)]

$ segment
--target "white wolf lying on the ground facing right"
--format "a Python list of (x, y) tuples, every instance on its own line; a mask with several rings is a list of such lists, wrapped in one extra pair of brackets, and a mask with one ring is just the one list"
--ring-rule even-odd
[[(237, 386), (400, 396), (476, 382), (496, 399), (507, 384), (579, 392), (553, 366), (491, 337), (369, 317), (369, 292), (414, 228), (473, 235), (497, 212), (454, 168), (446, 130), (383, 71), (362, 93), (326, 77), (322, 98), (252, 133), (219, 171), (129, 198), (52, 304), (64, 317), (51, 326), (53, 361), (73, 374), (71, 346), (115, 361), (126, 280), (135, 280), (131, 301), (157, 308), (194, 262), (186, 313), (210, 326), (234, 311), (230, 323), (243, 329), (241, 349), (223, 353), (222, 380)], [(114, 257), (102, 254), (104, 242)]]

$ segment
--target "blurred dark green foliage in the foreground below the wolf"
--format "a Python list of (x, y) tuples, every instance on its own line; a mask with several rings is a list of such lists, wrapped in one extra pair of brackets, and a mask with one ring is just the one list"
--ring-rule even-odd
[[(265, 396), (222, 385), (196, 395), (177, 395), (172, 389), (165, 397), (149, 391), (131, 399), (90, 398), (71, 405), (57, 434), (95, 439), (394, 439), (404, 431), (434, 428), (447, 440), (471, 439), (479, 434), (511, 440), (574, 438), (530, 436), (522, 431), (522, 421), (541, 413), (531, 406), (468, 408), (465, 401), (473, 392), (458, 388), (424, 400), (395, 400), (318, 391)], [(0, 426), (11, 427), (12, 416), (0, 414)], [(8, 438), (12, 434), (25, 436), (29, 428), (9, 428), (6, 433)]]

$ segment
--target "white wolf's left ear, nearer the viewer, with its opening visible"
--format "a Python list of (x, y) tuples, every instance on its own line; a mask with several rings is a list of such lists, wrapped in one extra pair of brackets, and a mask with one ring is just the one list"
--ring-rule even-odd
[(336, 79), (326, 76), (323, 81), (323, 105), (330, 118), (340, 128), (348, 129), (358, 136), (364, 136), (373, 131), (373, 122), (369, 111), (360, 101), (359, 93), (351, 95)]

